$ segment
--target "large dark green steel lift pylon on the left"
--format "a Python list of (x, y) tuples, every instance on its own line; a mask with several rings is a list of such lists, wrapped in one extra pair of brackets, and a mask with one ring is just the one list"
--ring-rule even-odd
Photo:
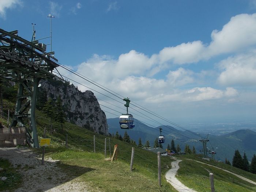
[(7, 32), (0, 29), (0, 78), (18, 84), (15, 112), (10, 127), (26, 127), (23, 119), (28, 118), (26, 141), (32, 147), (39, 147), (35, 124), (39, 80), (63, 80), (52, 73), (59, 66), (57, 61), (54, 52), (46, 52), (45, 44), (37, 40), (30, 42), (23, 39), (18, 36), (17, 30)]

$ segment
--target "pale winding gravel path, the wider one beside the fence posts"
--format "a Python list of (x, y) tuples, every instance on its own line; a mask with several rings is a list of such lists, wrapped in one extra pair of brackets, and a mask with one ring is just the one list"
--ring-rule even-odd
[(186, 187), (175, 177), (177, 170), (180, 168), (178, 165), (179, 162), (181, 162), (181, 160), (177, 160), (177, 159), (176, 161), (172, 162), (172, 169), (170, 169), (165, 174), (165, 178), (167, 182), (169, 182), (178, 192), (196, 192), (195, 190)]

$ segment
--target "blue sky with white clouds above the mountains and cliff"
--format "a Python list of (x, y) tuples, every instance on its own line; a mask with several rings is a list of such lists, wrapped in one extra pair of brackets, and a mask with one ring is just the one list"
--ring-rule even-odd
[(255, 12), (255, 0), (0, 0), (0, 27), (48, 37), (52, 14), (61, 64), (175, 123), (235, 122), (256, 115)]

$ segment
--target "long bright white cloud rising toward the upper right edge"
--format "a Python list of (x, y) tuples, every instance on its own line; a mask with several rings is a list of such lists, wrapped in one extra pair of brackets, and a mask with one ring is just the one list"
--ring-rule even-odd
[(157, 54), (159, 64), (186, 64), (207, 60), (213, 56), (232, 53), (256, 44), (256, 14), (232, 17), (222, 30), (213, 30), (209, 45), (202, 41), (182, 43), (163, 48)]

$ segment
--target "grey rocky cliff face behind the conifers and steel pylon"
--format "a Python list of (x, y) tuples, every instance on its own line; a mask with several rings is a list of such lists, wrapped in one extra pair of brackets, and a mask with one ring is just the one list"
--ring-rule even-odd
[[(41, 81), (39, 91), (47, 91), (47, 97), (61, 97), (66, 120), (94, 132), (108, 135), (105, 113), (101, 110), (97, 98), (91, 91), (81, 92), (73, 84), (60, 81)], [(38, 93), (40, 94), (40, 93)]]

